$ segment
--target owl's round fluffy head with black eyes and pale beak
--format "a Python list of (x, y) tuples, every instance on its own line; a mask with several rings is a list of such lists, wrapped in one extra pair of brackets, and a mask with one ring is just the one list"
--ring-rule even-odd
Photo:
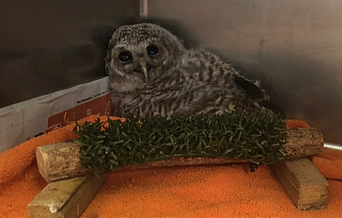
[(183, 54), (180, 40), (151, 23), (125, 25), (109, 40), (106, 71), (114, 91), (141, 88), (163, 76)]

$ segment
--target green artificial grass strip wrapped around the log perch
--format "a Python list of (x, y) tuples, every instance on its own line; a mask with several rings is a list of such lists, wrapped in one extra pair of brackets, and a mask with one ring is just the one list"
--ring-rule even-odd
[[(105, 131), (101, 131), (101, 128)], [(81, 164), (95, 172), (118, 170), (178, 157), (225, 157), (254, 164), (272, 164), (284, 159), (287, 134), (278, 115), (235, 114), (156, 116), (125, 122), (107, 119), (76, 123), (80, 136)]]

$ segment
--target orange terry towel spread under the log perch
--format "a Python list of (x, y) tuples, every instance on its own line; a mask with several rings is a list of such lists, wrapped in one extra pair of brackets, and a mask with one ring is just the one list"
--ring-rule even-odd
[[(97, 117), (84, 120), (94, 119)], [(290, 128), (306, 125), (288, 122)], [(73, 126), (0, 154), (0, 218), (28, 218), (27, 204), (47, 184), (38, 171), (35, 149), (76, 139)], [(82, 218), (341, 218), (342, 180), (338, 179), (342, 179), (342, 152), (324, 149), (313, 162), (329, 183), (328, 207), (321, 211), (297, 210), (267, 166), (249, 173), (247, 164), (221, 164), (111, 173)]]

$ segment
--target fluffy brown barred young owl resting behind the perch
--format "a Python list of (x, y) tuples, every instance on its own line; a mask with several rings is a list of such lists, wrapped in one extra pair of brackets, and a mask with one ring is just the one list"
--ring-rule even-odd
[(257, 81), (158, 25), (116, 29), (105, 61), (115, 116), (271, 112), (258, 103), (269, 96)]

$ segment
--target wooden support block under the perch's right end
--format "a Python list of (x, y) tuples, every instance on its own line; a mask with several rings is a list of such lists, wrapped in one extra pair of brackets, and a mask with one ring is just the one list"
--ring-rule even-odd
[(271, 167), (299, 210), (326, 208), (328, 182), (310, 159), (282, 161)]

